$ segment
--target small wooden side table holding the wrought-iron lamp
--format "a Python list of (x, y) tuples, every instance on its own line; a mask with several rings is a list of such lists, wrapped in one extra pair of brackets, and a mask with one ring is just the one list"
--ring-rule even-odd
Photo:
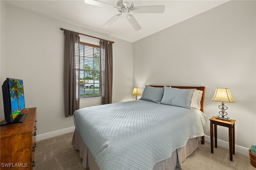
[(214, 142), (215, 148), (217, 148), (217, 125), (228, 127), (228, 140), (229, 140), (229, 156), (230, 160), (233, 161), (233, 154), (235, 154), (235, 121), (226, 121), (222, 119), (216, 119), (216, 116), (210, 120), (210, 136), (211, 136), (211, 152), (213, 153), (213, 125), (214, 125)]

